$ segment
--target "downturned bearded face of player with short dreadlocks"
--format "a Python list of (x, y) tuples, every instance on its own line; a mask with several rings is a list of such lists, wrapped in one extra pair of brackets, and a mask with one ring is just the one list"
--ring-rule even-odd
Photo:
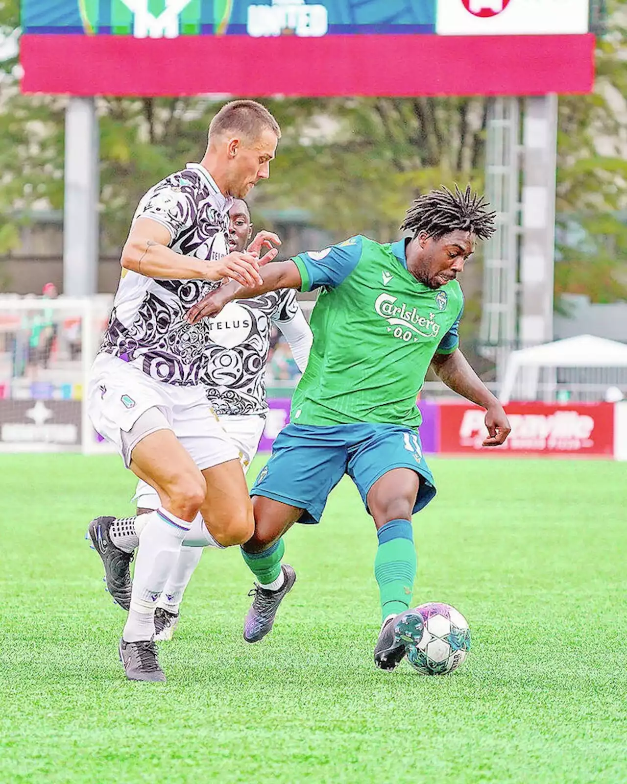
[(475, 249), (475, 235), (470, 231), (455, 230), (433, 239), (419, 234), (411, 245), (415, 245), (413, 269), (408, 254), (408, 267), (412, 274), (429, 289), (439, 289), (464, 271), (464, 264)]

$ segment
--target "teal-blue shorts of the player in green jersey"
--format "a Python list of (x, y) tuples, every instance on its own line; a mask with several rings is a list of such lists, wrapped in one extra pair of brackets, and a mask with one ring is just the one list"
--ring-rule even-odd
[(414, 512), (418, 512), (433, 499), (436, 488), (416, 430), (367, 423), (289, 424), (274, 441), (272, 456), (259, 472), (251, 495), (304, 509), (299, 522), (317, 523), (329, 493), (344, 474), (357, 485), (368, 510), (368, 491), (394, 468), (409, 468), (419, 474), (414, 504)]

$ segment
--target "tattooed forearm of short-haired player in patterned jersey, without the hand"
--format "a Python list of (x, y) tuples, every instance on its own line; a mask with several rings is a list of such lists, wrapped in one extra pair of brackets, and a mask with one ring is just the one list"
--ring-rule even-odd
[(122, 250), (121, 266), (147, 278), (207, 280), (210, 263), (183, 256), (151, 239), (129, 238)]

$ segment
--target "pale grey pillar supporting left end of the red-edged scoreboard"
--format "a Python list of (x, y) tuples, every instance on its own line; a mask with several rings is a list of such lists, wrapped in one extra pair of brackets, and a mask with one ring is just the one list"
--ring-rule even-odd
[(72, 97), (65, 111), (63, 294), (98, 289), (99, 130), (92, 97)]

